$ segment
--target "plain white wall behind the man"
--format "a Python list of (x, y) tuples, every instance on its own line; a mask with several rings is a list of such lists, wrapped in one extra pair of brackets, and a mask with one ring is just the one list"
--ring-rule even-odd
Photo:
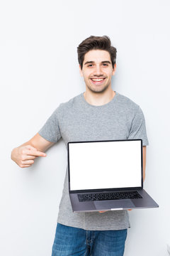
[(1, 1), (0, 254), (47, 256), (67, 164), (60, 141), (20, 169), (11, 150), (33, 137), (60, 102), (85, 90), (77, 46), (108, 35), (118, 49), (113, 89), (145, 113), (145, 189), (158, 209), (132, 210), (125, 256), (166, 256), (169, 230), (168, 0)]

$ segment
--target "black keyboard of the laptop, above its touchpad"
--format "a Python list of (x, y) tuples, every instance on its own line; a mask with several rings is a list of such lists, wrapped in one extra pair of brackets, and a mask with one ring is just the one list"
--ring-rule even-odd
[(137, 191), (78, 194), (79, 202), (142, 198)]

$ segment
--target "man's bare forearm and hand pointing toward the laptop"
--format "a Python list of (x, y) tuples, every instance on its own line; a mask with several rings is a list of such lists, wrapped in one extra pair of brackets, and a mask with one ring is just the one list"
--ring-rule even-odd
[(29, 167), (34, 164), (34, 159), (38, 156), (46, 156), (44, 152), (53, 144), (55, 143), (48, 142), (37, 133), (28, 142), (13, 149), (11, 159), (21, 168)]

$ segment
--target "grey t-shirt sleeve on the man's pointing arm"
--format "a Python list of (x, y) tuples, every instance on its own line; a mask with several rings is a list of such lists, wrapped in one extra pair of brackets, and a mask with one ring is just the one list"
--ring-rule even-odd
[(44, 139), (47, 139), (48, 142), (57, 142), (62, 136), (60, 133), (59, 125), (59, 113), (58, 108), (55, 110), (52, 115), (47, 119), (44, 126), (40, 129), (38, 134)]

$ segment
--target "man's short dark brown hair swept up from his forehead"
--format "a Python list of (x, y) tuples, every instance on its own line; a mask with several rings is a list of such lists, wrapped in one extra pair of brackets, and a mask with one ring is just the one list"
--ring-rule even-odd
[(108, 36), (90, 36), (79, 44), (77, 53), (81, 69), (83, 68), (84, 55), (89, 50), (107, 50), (111, 55), (111, 62), (114, 68), (117, 50), (111, 46), (111, 39)]

